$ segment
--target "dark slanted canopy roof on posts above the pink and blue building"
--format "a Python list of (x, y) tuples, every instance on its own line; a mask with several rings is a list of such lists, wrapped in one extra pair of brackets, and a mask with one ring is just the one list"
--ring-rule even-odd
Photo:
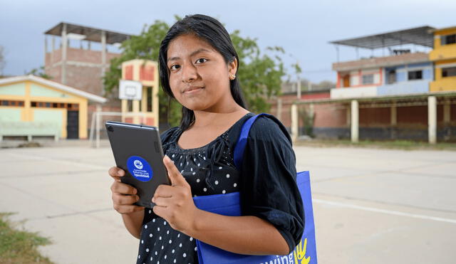
[(399, 46), (403, 44), (417, 44), (432, 48), (434, 44), (435, 28), (431, 26), (420, 26), (400, 31), (391, 31), (358, 38), (348, 38), (341, 41), (331, 41), (330, 43), (358, 48), (385, 48)]

